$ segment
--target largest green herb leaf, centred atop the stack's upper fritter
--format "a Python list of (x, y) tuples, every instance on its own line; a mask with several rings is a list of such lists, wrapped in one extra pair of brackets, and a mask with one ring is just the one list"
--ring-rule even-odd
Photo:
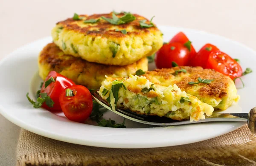
[(134, 21), (136, 19), (136, 17), (134, 15), (132, 15), (131, 13), (127, 13), (124, 16), (118, 18), (116, 17), (116, 14), (112, 13), (112, 19), (111, 18), (107, 18), (107, 17), (101, 17), (103, 20), (108, 21), (108, 23), (111, 23), (113, 25), (120, 25), (120, 24), (125, 24), (125, 23), (129, 23), (131, 21)]

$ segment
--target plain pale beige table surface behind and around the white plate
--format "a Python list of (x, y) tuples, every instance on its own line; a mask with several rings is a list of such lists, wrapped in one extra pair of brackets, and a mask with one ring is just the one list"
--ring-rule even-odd
[[(149, 19), (155, 16), (158, 25), (219, 34), (256, 50), (256, 0), (0, 0), (0, 59), (49, 36), (55, 23), (74, 12), (93, 14), (113, 9)], [(15, 165), (19, 130), (0, 115), (0, 166)]]

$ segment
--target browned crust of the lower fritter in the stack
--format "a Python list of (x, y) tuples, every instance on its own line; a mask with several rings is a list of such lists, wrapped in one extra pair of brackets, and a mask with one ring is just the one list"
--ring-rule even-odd
[[(102, 65), (93, 62), (87, 62), (81, 58), (64, 54), (54, 43), (47, 44), (39, 55), (39, 63), (47, 64), (51, 70), (61, 72), (65, 68), (72, 68), (76, 72), (97, 72), (97, 75), (112, 75), (117, 70), (129, 71), (142, 64), (145, 64), (146, 58), (125, 66)], [(115, 78), (115, 80), (118, 78)]]

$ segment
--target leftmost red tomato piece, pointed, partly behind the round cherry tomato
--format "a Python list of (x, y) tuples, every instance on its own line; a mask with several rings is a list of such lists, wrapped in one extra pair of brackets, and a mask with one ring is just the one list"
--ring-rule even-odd
[[(45, 88), (45, 82), (49, 80), (50, 78), (53, 78), (55, 82), (51, 82), (46, 88)], [(49, 96), (52, 101), (54, 102), (53, 107), (48, 107), (45, 103), (42, 105), (47, 110), (50, 111), (61, 111), (61, 106), (59, 102), (59, 95), (60, 93), (66, 88), (70, 87), (72, 85), (75, 85), (75, 83), (71, 80), (68, 79), (65, 76), (62, 76), (61, 74), (55, 72), (55, 71), (50, 71), (48, 76), (45, 79), (44, 84), (42, 85), (41, 88), (41, 93), (47, 93), (47, 96)]]

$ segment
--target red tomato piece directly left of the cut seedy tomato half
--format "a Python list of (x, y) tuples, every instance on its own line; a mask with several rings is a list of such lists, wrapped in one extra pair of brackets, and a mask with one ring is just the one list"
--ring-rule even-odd
[(219, 51), (219, 49), (215, 45), (207, 43), (198, 51), (194, 57), (189, 60), (189, 65), (206, 68), (209, 54), (212, 51)]

